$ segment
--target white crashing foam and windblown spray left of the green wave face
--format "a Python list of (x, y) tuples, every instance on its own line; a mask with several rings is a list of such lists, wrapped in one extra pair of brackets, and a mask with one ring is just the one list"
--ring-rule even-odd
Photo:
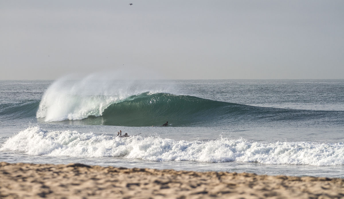
[[(103, 76), (90, 75), (82, 80), (62, 78), (55, 81), (44, 93), (36, 113), (45, 122), (80, 120), (89, 116), (100, 116), (112, 103), (146, 92), (135, 81), (115, 81)], [(151, 89), (161, 92), (161, 89)]]

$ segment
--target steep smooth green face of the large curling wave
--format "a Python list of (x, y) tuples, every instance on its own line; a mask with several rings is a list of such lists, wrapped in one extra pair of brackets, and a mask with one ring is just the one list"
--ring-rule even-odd
[(105, 125), (155, 126), (169, 121), (173, 126), (192, 126), (228, 118), (237, 106), (244, 105), (185, 95), (142, 93), (111, 104), (101, 118)]

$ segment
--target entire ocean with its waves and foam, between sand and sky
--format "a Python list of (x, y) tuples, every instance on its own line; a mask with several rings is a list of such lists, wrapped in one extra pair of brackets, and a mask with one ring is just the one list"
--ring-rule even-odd
[(3, 80), (0, 161), (344, 178), (344, 80)]

